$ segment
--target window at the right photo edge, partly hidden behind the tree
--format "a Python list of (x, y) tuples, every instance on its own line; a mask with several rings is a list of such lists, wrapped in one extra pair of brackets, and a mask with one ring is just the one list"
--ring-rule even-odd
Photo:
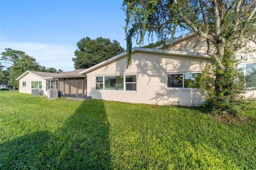
[(240, 63), (237, 67), (247, 79), (245, 86), (256, 87), (256, 63)]

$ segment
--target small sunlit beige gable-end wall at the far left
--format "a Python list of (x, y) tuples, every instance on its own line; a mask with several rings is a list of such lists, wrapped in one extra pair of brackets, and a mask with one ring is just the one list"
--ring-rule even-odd
[[(26, 81), (26, 87), (22, 87), (23, 81)], [(19, 80), (19, 92), (31, 94), (31, 81), (42, 81), (42, 90), (44, 91), (44, 95), (46, 95), (46, 81), (31, 73), (28, 73), (25, 77)]]

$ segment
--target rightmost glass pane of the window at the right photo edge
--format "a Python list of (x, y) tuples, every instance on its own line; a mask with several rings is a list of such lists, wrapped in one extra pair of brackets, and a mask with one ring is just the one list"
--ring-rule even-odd
[(246, 87), (256, 87), (256, 64), (246, 64)]

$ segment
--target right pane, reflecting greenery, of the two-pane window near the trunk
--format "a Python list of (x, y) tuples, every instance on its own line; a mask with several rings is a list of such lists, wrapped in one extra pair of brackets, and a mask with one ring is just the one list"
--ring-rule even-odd
[(199, 88), (199, 79), (201, 73), (184, 73), (185, 88)]

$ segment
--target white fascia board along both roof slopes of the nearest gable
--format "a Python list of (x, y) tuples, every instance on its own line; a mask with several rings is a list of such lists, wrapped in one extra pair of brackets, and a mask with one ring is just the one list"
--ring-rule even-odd
[[(178, 55), (178, 56), (188, 56), (188, 57), (196, 57), (196, 58), (209, 58), (209, 56), (205, 53), (195, 53), (195, 52), (183, 52), (183, 51), (177, 51), (177, 50), (164, 50), (164, 49), (155, 49), (155, 48), (140, 48), (140, 47), (134, 47), (132, 48), (132, 53), (135, 52), (145, 52), (145, 53), (156, 53), (156, 54), (166, 54), (166, 55)], [(106, 61), (103, 61), (99, 64), (96, 64), (89, 69), (86, 69), (84, 71), (79, 72), (79, 74), (88, 73), (92, 70), (98, 69), (101, 66), (107, 65), (109, 63), (112, 63), (116, 60), (119, 60), (122, 57), (125, 57), (127, 55), (126, 52), (121, 53), (119, 55), (116, 55), (112, 58), (109, 58)]]

